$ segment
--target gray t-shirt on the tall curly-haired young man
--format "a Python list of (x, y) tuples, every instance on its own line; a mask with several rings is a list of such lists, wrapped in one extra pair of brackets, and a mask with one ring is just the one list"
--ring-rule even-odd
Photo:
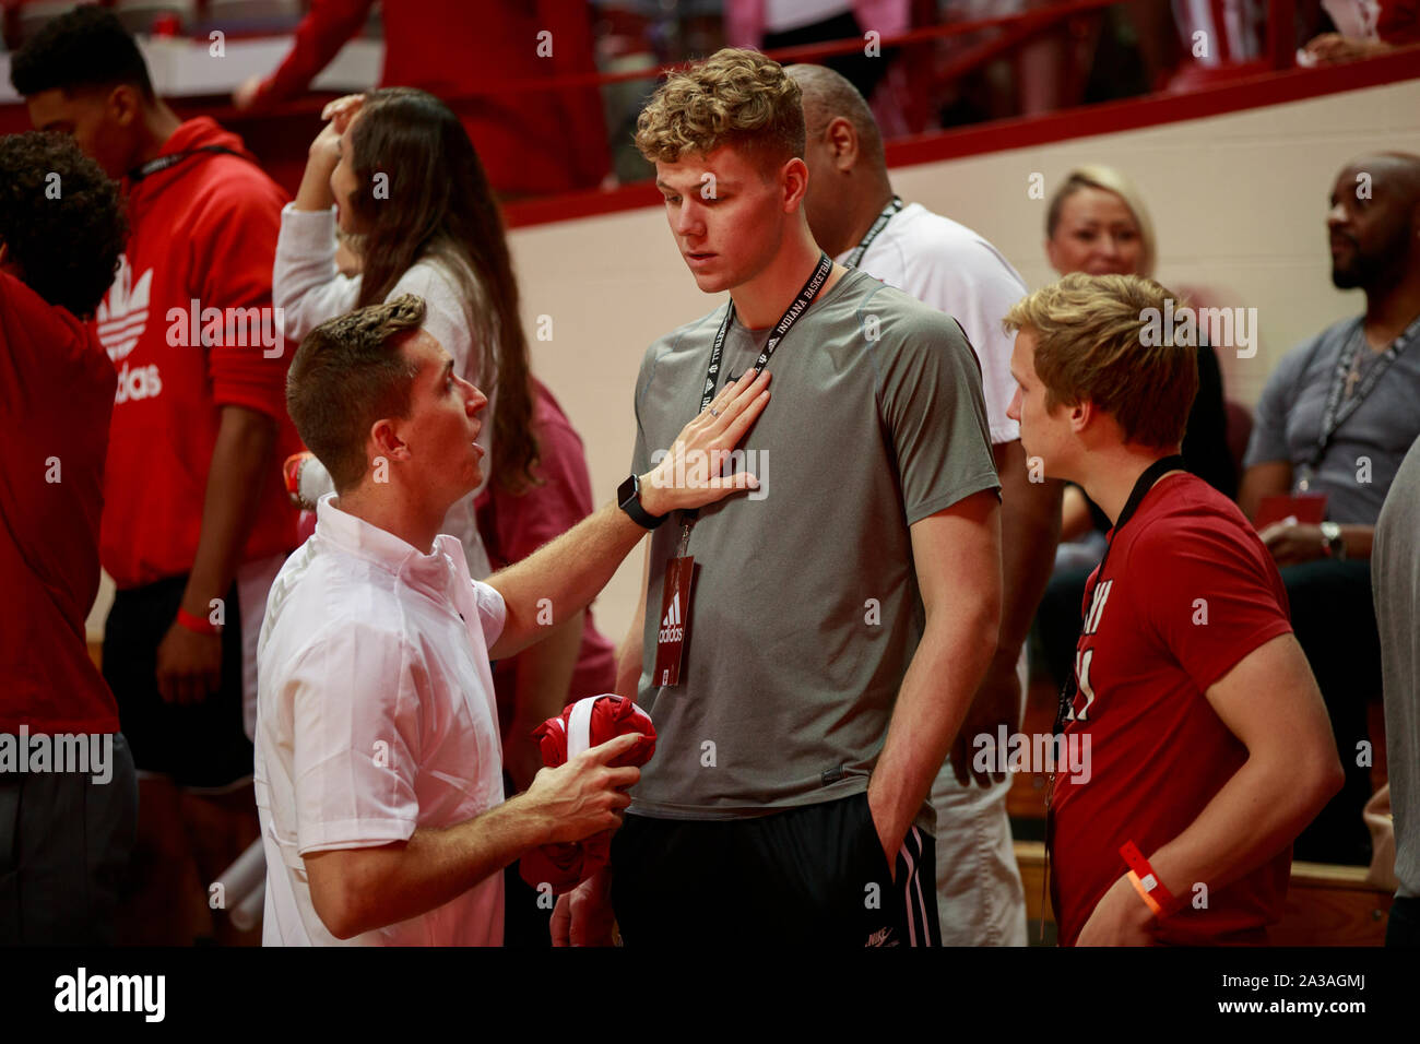
[[(633, 472), (699, 412), (724, 312), (648, 349)], [(721, 376), (753, 368), (768, 332), (736, 321)], [(652, 535), (638, 699), (659, 739), (632, 793), (643, 815), (744, 818), (863, 791), (923, 629), (907, 527), (1000, 489), (960, 327), (866, 273), (819, 297), (768, 369), (772, 399), (743, 443), (763, 486), (700, 513), (672, 687), (652, 669), (682, 518)]]

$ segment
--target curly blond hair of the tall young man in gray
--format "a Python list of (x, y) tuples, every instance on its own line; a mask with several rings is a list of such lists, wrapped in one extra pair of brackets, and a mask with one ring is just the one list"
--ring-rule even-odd
[(761, 168), (804, 158), (802, 91), (758, 51), (726, 47), (670, 72), (636, 119), (636, 148), (652, 163), (676, 163), (733, 145)]

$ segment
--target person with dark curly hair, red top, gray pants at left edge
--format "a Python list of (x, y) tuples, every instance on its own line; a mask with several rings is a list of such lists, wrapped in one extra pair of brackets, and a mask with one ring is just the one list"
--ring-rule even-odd
[(114, 365), (75, 318), (125, 230), (72, 142), (0, 138), (0, 946), (108, 942), (133, 841), (133, 758), (84, 635)]

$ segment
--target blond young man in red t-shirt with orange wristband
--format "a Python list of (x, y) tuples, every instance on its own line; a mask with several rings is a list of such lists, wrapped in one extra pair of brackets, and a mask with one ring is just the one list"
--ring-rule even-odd
[(1115, 523), (1061, 706), (1088, 760), (1051, 794), (1064, 945), (1265, 942), (1291, 842), (1342, 781), (1271, 555), (1177, 456), (1198, 379), (1156, 335), (1170, 297), (1072, 274), (1005, 317), (1025, 452)]

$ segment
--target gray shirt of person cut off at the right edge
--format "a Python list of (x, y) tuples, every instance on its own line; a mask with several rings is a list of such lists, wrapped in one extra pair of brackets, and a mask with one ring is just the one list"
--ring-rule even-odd
[(1420, 442), (1396, 472), (1380, 511), (1370, 582), (1386, 695), (1397, 895), (1420, 898)]

